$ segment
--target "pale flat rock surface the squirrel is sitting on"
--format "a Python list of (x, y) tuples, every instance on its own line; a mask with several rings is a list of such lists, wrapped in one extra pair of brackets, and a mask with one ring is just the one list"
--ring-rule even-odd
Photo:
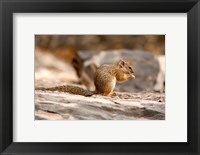
[(36, 91), (36, 120), (164, 120), (161, 93), (117, 93), (116, 97), (84, 97), (65, 92)]

